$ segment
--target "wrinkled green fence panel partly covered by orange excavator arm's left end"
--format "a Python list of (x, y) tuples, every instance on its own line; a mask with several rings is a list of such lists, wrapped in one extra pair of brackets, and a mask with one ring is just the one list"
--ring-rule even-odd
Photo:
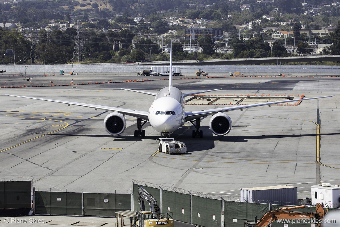
[(259, 219), (268, 210), (268, 204), (224, 201), (224, 226), (244, 227), (245, 221)]

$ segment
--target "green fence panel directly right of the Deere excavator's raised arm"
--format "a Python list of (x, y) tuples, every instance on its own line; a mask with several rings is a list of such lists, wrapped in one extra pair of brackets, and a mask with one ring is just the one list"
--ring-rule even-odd
[(162, 190), (162, 213), (167, 212), (176, 221), (190, 223), (190, 195)]

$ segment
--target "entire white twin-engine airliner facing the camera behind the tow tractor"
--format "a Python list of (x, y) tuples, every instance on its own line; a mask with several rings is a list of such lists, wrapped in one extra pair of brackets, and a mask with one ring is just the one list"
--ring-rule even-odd
[[(231, 118), (223, 112), (228, 112), (232, 110), (243, 110), (245, 108), (250, 107), (259, 107), (259, 106), (271, 106), (273, 104), (285, 103), (285, 102), (295, 102), (309, 99), (318, 99), (318, 98), (326, 98), (331, 96), (323, 96), (323, 97), (315, 97), (315, 98), (303, 98), (299, 100), (285, 100), (285, 101), (274, 101), (274, 102), (265, 102), (265, 103), (256, 103), (256, 104), (246, 104), (242, 106), (232, 106), (232, 107), (222, 107), (216, 109), (209, 110), (198, 110), (198, 111), (185, 111), (185, 97), (189, 95), (211, 92), (220, 89), (207, 90), (207, 91), (199, 91), (199, 92), (190, 92), (190, 93), (182, 93), (181, 90), (172, 86), (172, 43), (171, 43), (171, 51), (170, 51), (170, 77), (169, 77), (169, 86), (163, 88), (158, 93), (145, 92), (145, 91), (136, 91), (130, 89), (128, 90), (133, 92), (139, 92), (147, 95), (155, 96), (154, 101), (152, 102), (149, 111), (138, 111), (138, 110), (129, 110), (117, 107), (107, 107), (100, 106), (88, 103), (81, 102), (70, 102), (70, 101), (61, 101), (54, 99), (44, 99), (44, 98), (35, 98), (35, 97), (27, 97), (27, 96), (19, 96), (19, 95), (9, 95), (16, 96), (22, 98), (30, 98), (51, 102), (60, 102), (66, 103), (68, 106), (82, 106), (89, 107), (94, 109), (100, 109), (105, 111), (112, 111), (113, 113), (108, 114), (104, 119), (104, 128), (111, 135), (119, 135), (121, 134), (126, 127), (125, 115), (129, 115), (137, 118), (137, 130), (135, 130), (135, 137), (145, 136), (145, 130), (142, 130), (142, 126), (150, 122), (150, 125), (162, 135), (167, 137), (170, 133), (176, 131), (179, 127), (183, 126), (185, 122), (190, 121), (194, 126), (195, 130), (192, 130), (192, 137), (200, 136), (203, 137), (203, 131), (200, 130), (200, 118), (212, 115), (209, 127), (212, 133), (222, 136), (226, 135), (232, 128), (232, 120)], [(142, 124), (143, 122), (143, 124)]]

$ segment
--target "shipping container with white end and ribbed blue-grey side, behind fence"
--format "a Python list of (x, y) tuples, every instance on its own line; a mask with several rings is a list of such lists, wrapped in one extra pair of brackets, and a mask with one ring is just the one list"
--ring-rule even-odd
[(256, 187), (241, 189), (241, 202), (258, 202), (296, 205), (297, 187), (290, 185), (277, 185), (269, 187)]

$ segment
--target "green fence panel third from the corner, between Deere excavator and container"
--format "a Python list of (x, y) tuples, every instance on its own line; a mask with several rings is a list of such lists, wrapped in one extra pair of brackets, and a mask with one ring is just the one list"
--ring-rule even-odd
[(192, 196), (192, 224), (220, 227), (221, 209), (221, 200)]

